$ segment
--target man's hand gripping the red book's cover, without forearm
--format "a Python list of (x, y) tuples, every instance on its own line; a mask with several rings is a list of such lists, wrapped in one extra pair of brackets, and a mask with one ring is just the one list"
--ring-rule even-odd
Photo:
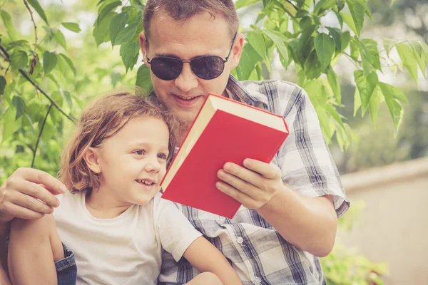
[(269, 163), (246, 159), (244, 166), (227, 162), (218, 170), (218, 190), (233, 197), (248, 209), (260, 209), (284, 189), (281, 170)]

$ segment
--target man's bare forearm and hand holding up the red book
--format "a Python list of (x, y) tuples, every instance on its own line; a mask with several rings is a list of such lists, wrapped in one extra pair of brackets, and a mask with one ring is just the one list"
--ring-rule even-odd
[(335, 243), (337, 215), (330, 195), (304, 197), (286, 187), (278, 167), (245, 160), (226, 163), (217, 187), (248, 209), (255, 209), (280, 235), (305, 252), (325, 257)]

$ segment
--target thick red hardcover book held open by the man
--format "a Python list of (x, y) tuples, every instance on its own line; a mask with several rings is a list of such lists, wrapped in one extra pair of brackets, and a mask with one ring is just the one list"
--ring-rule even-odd
[(208, 94), (163, 177), (163, 199), (233, 218), (240, 202), (215, 187), (225, 162), (270, 162), (288, 135), (284, 118)]

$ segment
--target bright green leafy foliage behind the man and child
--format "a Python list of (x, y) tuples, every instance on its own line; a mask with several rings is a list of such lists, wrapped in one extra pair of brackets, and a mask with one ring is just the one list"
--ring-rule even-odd
[[(374, 11), (385, 9), (384, 1), (372, 2)], [(0, 3), (0, 184), (18, 167), (56, 175), (63, 141), (93, 96), (134, 84), (151, 90), (148, 68), (138, 62), (145, 1), (44, 3)], [(379, 81), (379, 75), (392, 68), (408, 73), (418, 86), (428, 64), (423, 36), (382, 43), (365, 38), (362, 31), (372, 19), (366, 0), (238, 0), (235, 6), (238, 12), (260, 7), (257, 19), (240, 28), (246, 44), (233, 71), (239, 80), (268, 78), (278, 59), (285, 69), (293, 66), (327, 142), (342, 151), (357, 141), (356, 127), (347, 120), (357, 113), (375, 124), (385, 108), (397, 135), (408, 99), (397, 86)], [(389, 58), (392, 52), (399, 62)], [(343, 92), (337, 76), (340, 58), (352, 66), (353, 96)], [(353, 112), (347, 113), (351, 104)], [(337, 247), (323, 261), (331, 284), (382, 282), (384, 266), (364, 257), (355, 264), (354, 259)]]

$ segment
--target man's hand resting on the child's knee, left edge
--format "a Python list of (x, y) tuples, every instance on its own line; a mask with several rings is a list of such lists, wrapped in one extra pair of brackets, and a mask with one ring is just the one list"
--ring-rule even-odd
[(51, 214), (59, 205), (55, 195), (66, 190), (46, 172), (19, 168), (0, 187), (0, 221), (10, 222), (14, 217), (39, 219)]

